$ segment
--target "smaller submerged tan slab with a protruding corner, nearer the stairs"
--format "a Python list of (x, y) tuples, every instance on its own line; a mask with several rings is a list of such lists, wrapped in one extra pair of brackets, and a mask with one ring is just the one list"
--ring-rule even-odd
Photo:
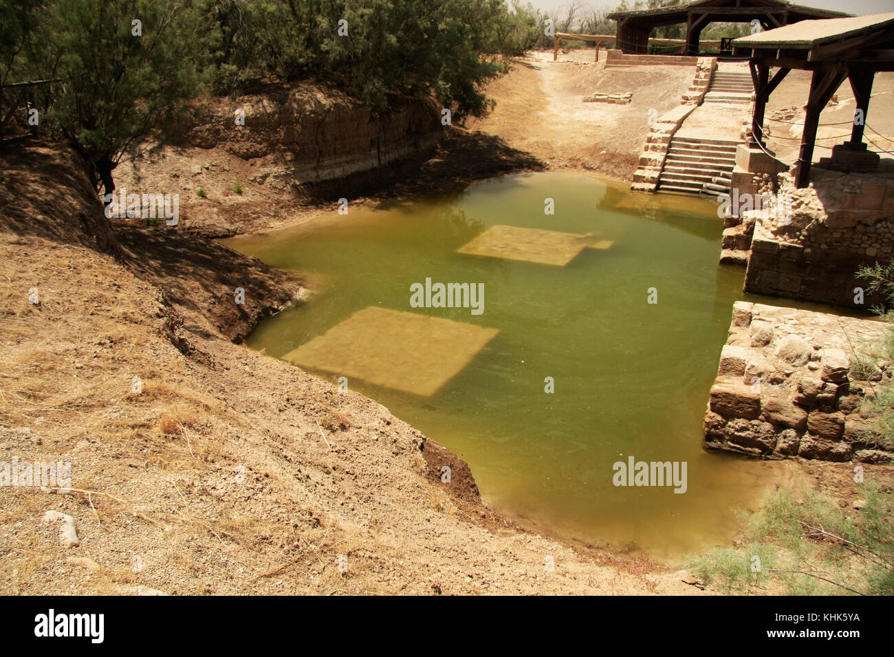
[(611, 248), (613, 243), (575, 232), (496, 225), (457, 249), (457, 252), (565, 266), (587, 247)]

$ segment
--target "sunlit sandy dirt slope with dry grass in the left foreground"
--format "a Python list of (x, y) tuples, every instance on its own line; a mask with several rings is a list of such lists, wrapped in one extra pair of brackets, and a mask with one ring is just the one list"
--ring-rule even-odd
[[(122, 262), (97, 251), (76, 164), (46, 145), (4, 157), (0, 454), (70, 462), (80, 492), (0, 491), (0, 593), (699, 593), (518, 530), (384, 407), (229, 339), (299, 282), (163, 228), (122, 232)], [(243, 328), (224, 334), (236, 284)], [(41, 522), (51, 509), (80, 546)]]

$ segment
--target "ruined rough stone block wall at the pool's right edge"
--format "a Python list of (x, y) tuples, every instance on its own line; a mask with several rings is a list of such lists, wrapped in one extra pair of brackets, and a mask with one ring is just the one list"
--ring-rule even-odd
[(738, 301), (704, 416), (704, 445), (756, 457), (885, 462), (864, 401), (894, 364), (888, 331), (860, 319)]

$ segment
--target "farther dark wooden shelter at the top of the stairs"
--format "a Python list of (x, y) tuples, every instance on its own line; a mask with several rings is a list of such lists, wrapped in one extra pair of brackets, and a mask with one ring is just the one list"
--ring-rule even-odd
[(686, 24), (684, 55), (698, 55), (702, 30), (713, 22), (751, 23), (758, 21), (763, 29), (778, 28), (797, 21), (839, 18), (848, 13), (814, 9), (785, 0), (693, 0), (658, 9), (612, 12), (608, 18), (618, 21), (617, 47), (633, 55), (648, 52), (649, 35), (655, 28)]

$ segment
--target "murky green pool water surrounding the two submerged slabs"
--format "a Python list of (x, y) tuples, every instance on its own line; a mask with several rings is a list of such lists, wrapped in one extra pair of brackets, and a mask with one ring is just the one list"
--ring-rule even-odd
[[(554, 215), (544, 214), (545, 198)], [(728, 542), (732, 509), (754, 508), (788, 477), (784, 464), (701, 447), (732, 303), (746, 298), (744, 269), (717, 264), (716, 208), (582, 175), (534, 173), (348, 215), (333, 210), (332, 221), (313, 230), (227, 243), (299, 271), (317, 290), (249, 336), (250, 347), (274, 357), (369, 306), (498, 329), (431, 396), (355, 380), (351, 389), (466, 459), (485, 501), (521, 524), (676, 558)], [(564, 266), (457, 252), (496, 224), (589, 233), (611, 246), (585, 248)], [(410, 285), (426, 277), (484, 283), (484, 312), (411, 307)], [(650, 288), (657, 303), (647, 302)], [(546, 377), (552, 393), (544, 392)], [(686, 492), (615, 486), (613, 464), (630, 456), (685, 461)]]

